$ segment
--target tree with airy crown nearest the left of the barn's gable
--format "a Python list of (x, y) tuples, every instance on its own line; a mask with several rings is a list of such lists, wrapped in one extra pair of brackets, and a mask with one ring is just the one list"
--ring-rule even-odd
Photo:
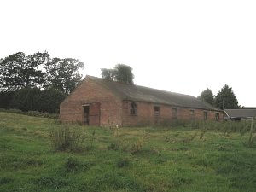
[(84, 62), (68, 58), (53, 58), (45, 64), (46, 86), (69, 94), (82, 80), (79, 68), (84, 67)]

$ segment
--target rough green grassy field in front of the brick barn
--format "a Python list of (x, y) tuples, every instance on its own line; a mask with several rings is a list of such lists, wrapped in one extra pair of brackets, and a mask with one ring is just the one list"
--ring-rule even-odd
[[(50, 130), (85, 136), (57, 151)], [(85, 134), (85, 135), (84, 135)], [(248, 133), (189, 127), (103, 129), (0, 112), (0, 191), (255, 191)]]

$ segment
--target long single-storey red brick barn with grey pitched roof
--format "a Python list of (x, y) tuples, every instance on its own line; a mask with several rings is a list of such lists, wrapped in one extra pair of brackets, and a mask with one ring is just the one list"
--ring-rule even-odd
[(87, 125), (154, 125), (176, 119), (223, 118), (223, 111), (194, 96), (88, 75), (60, 106), (62, 122)]

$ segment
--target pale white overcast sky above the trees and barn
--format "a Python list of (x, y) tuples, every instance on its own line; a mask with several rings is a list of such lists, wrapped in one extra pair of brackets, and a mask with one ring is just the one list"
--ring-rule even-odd
[(224, 84), (256, 107), (256, 1), (1, 0), (0, 58), (47, 50), (84, 76), (129, 65), (135, 84), (199, 96)]

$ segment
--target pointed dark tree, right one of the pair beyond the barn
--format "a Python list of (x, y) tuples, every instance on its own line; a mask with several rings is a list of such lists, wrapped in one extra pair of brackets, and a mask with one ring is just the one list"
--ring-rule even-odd
[(214, 105), (217, 108), (221, 109), (239, 108), (236, 96), (232, 88), (229, 87), (227, 84), (225, 84), (224, 87), (220, 91), (218, 91), (218, 94), (214, 100)]

